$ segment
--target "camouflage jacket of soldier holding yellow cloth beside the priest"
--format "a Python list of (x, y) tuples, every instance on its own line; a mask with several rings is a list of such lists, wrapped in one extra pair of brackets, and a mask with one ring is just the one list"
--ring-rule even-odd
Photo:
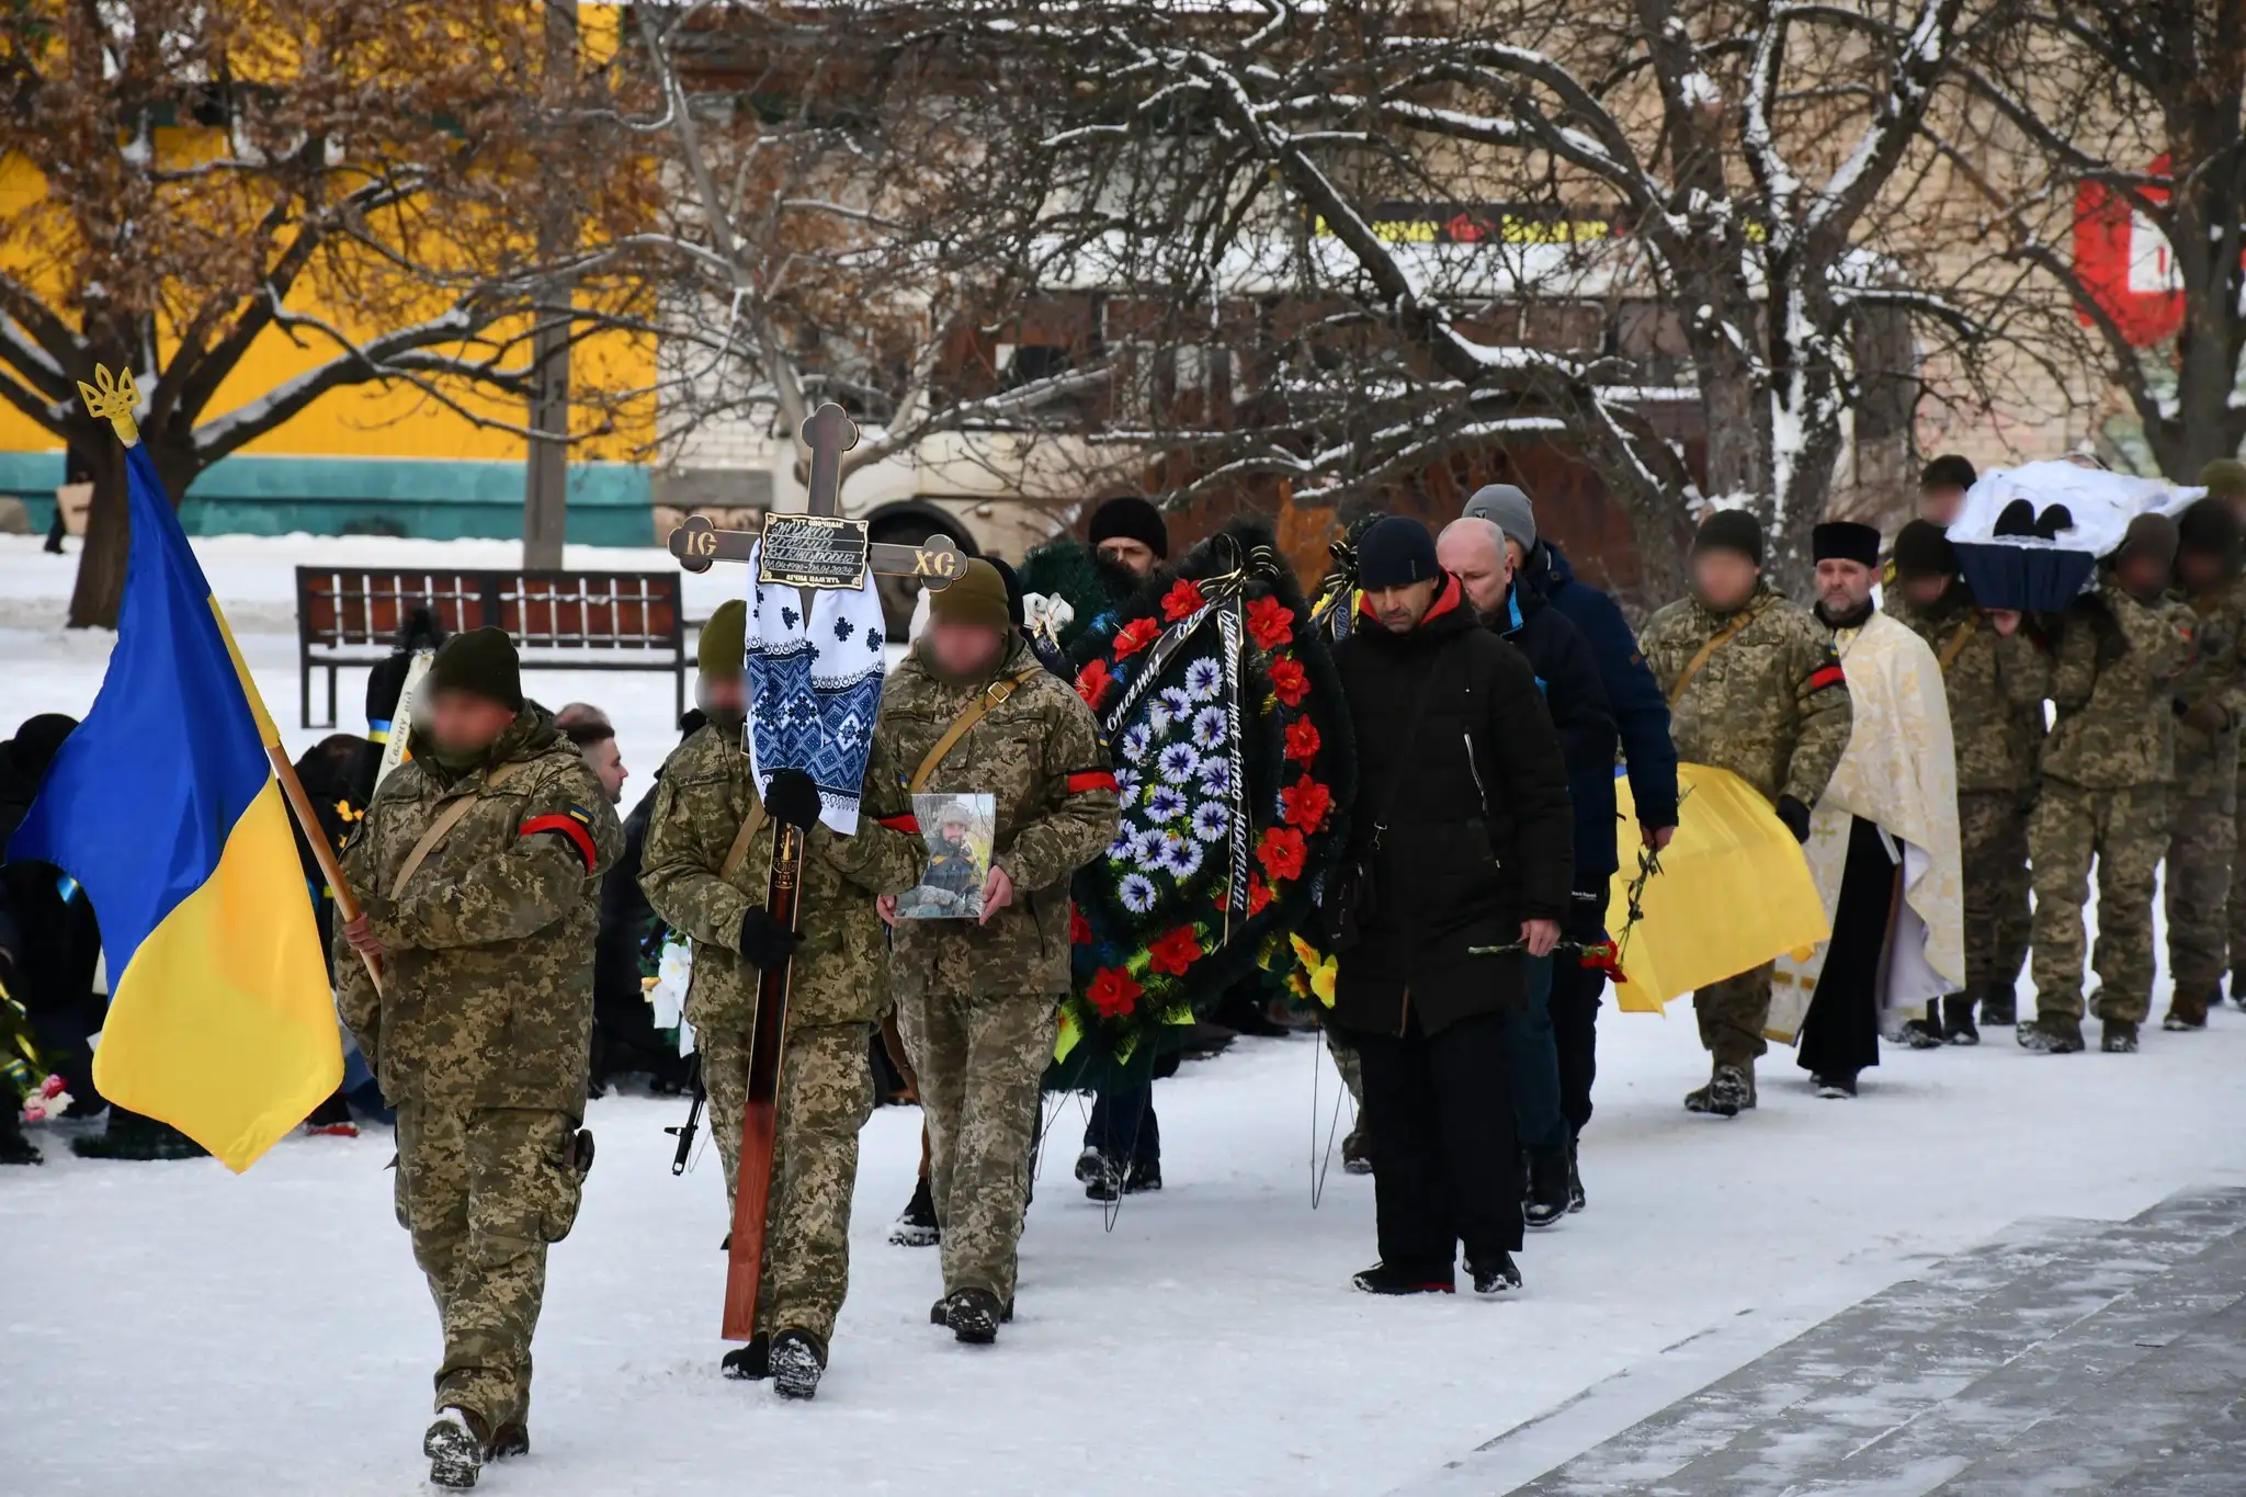
[(1682, 599), (1646, 624), (1640, 649), (1673, 698), (1669, 736), (1682, 761), (1729, 770), (1772, 801), (1790, 795), (1815, 806), (1848, 747), (1853, 718), (1833, 635), (1768, 586), (1756, 588), (1745, 613), (1745, 628), (1716, 646), (1682, 696), (1684, 667), (1738, 615)]

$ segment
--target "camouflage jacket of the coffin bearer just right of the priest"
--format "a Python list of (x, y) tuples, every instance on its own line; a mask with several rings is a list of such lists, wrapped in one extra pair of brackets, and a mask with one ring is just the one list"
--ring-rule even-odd
[(2044, 745), (2044, 698), (2051, 696), (2051, 651), (2026, 628), (1999, 635), (1965, 584), (1952, 584), (1934, 608), (1898, 604), (1891, 613), (1927, 642), (1943, 667), (1959, 795), (2033, 790)]

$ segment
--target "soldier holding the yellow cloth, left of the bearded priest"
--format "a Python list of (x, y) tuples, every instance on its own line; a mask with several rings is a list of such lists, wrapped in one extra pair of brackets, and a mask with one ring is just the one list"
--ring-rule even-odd
[[(1738, 774), (1806, 842), (1853, 716), (1833, 635), (1763, 581), (1763, 530), (1745, 512), (1718, 509), (1700, 523), (1691, 568), (1693, 597), (1655, 613), (1640, 635), (1669, 698), (1678, 759)], [(1687, 1109), (1734, 1118), (1754, 1106), (1770, 972), (1765, 963), (1693, 994), (1714, 1075), (1684, 1098)]]

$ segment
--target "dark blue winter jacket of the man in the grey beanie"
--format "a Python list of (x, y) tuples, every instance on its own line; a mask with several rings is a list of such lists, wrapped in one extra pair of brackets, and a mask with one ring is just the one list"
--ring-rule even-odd
[[(1559, 610), (1590, 642), (1606, 685), (1606, 702), (1622, 734), (1622, 759), (1631, 770), (1631, 799), (1644, 826), (1676, 826), (1678, 819), (1678, 752), (1669, 743), (1669, 698), (1653, 682), (1646, 658), (1637, 653), (1631, 622), (1622, 617), (1606, 593), (1574, 579), (1568, 557), (1550, 541), (1536, 543), (1536, 554), (1523, 568), (1530, 588)], [(1577, 819), (1583, 826), (1613, 826), (1615, 781), (1590, 777), (1570, 786), (1577, 797)], [(1586, 803), (1588, 801), (1588, 803)], [(1574, 887), (1604, 889), (1615, 873), (1615, 837), (1577, 837)]]

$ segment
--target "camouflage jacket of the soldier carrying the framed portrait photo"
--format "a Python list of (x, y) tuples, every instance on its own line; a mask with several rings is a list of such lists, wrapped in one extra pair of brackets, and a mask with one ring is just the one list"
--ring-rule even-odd
[[(1092, 709), (1038, 667), (1020, 633), (1011, 640), (993, 680), (1033, 673), (952, 745), (923, 792), (997, 797), (990, 862), (1013, 880), (1013, 902), (988, 925), (898, 920), (889, 967), (901, 997), (1067, 992), (1069, 875), (1116, 837), (1121, 806)], [(919, 651), (905, 655), (880, 694), (874, 745), (887, 781), (867, 788), (867, 806), (910, 815), (907, 779), (984, 689), (937, 680)]]

